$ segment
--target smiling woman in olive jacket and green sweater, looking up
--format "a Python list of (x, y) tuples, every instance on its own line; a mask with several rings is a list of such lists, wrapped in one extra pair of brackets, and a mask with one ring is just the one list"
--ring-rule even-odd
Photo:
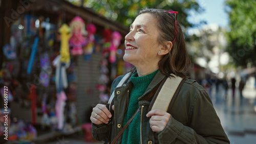
[(194, 80), (183, 83), (167, 112), (149, 108), (153, 98), (146, 98), (165, 77), (185, 78), (185, 42), (173, 15), (144, 9), (132, 23), (123, 59), (133, 72), (122, 86), (117, 87), (123, 76), (112, 83), (114, 114), (105, 105), (93, 108), (95, 139), (111, 142), (139, 108), (116, 143), (229, 143), (207, 92)]

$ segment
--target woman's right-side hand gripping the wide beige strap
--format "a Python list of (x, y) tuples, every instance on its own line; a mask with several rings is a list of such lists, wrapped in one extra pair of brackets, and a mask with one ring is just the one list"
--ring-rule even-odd
[(146, 117), (151, 117), (150, 127), (152, 131), (160, 132), (166, 127), (167, 123), (169, 122), (170, 114), (159, 109), (154, 109), (148, 112), (146, 114)]

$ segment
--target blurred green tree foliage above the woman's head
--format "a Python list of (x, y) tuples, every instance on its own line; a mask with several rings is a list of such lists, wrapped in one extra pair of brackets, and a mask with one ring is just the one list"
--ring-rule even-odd
[(84, 7), (90, 7), (97, 13), (111, 20), (116, 20), (130, 26), (142, 8), (157, 8), (178, 11), (178, 21), (184, 28), (194, 27), (200, 23), (189, 23), (186, 18), (189, 11), (203, 12), (195, 0), (165, 0), (165, 1), (139, 1), (139, 0), (83, 0)]

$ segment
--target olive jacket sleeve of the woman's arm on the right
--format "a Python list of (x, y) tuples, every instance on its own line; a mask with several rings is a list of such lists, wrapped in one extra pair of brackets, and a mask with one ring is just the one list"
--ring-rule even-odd
[(188, 126), (171, 115), (165, 129), (158, 133), (159, 143), (230, 143), (205, 90), (189, 109)]

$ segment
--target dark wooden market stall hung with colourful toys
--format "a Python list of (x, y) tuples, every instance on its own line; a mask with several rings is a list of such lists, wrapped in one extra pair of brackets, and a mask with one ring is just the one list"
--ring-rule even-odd
[(63, 0), (1, 1), (0, 10), (8, 140), (44, 141), (47, 133), (81, 130), (92, 107), (108, 100), (113, 79), (131, 66), (122, 61), (120, 44), (128, 28)]

